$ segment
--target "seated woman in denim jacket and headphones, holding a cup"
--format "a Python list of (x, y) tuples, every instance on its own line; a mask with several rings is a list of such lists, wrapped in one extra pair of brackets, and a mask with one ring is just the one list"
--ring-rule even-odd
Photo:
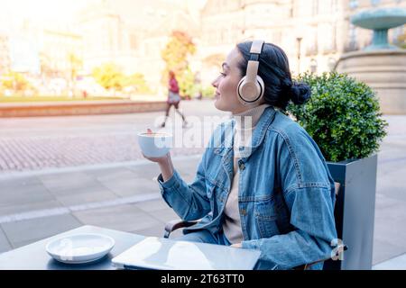
[(236, 45), (222, 68), (215, 106), (233, 118), (214, 132), (195, 181), (182, 180), (171, 154), (149, 158), (163, 199), (182, 220), (201, 219), (180, 239), (259, 249), (258, 269), (330, 257), (334, 181), (318, 145), (283, 113), (308, 101), (309, 86), (293, 82), (286, 54), (263, 41)]

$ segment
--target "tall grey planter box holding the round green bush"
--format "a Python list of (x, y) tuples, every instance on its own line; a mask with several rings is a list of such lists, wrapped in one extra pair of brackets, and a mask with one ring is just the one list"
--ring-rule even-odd
[(342, 261), (328, 260), (324, 269), (372, 268), (377, 161), (374, 155), (328, 162), (331, 175), (341, 184), (335, 207), (336, 228), (348, 250)]

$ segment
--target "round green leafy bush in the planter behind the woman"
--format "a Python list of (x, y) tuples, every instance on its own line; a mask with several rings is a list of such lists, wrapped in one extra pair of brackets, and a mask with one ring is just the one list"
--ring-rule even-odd
[(311, 87), (303, 105), (290, 103), (287, 112), (318, 143), (326, 160), (369, 157), (386, 135), (378, 98), (368, 85), (337, 72), (300, 75)]

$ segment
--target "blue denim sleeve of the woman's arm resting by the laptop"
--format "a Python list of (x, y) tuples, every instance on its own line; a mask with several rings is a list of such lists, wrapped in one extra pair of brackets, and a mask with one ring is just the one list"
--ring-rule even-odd
[[(301, 133), (301, 134), (300, 134)], [(331, 256), (337, 238), (334, 181), (319, 149), (303, 130), (292, 140), (281, 135), (277, 168), (291, 213), (291, 232), (243, 241), (261, 250), (260, 269), (291, 269)], [(333, 184), (331, 184), (333, 183)]]

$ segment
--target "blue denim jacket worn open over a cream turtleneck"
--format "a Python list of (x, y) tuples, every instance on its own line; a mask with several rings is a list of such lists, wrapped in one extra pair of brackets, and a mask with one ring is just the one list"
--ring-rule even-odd
[[(184, 233), (215, 233), (222, 227), (233, 179), (234, 125), (231, 119), (217, 127), (191, 184), (176, 170), (166, 182), (158, 177), (163, 199), (182, 220), (201, 219)], [(306, 130), (268, 107), (254, 130), (252, 148), (239, 150), (242, 246), (261, 251), (256, 268), (290, 269), (330, 257), (337, 238), (335, 185)]]

